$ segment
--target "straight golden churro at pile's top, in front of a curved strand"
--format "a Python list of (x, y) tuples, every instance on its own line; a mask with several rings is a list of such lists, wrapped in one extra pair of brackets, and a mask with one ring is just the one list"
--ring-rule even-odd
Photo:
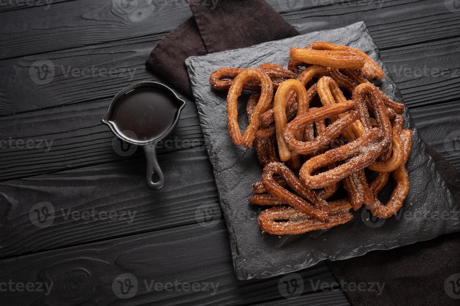
[(362, 56), (357, 52), (351, 51), (313, 50), (292, 47), (289, 51), (289, 56), (299, 62), (332, 68), (360, 69), (364, 65)]

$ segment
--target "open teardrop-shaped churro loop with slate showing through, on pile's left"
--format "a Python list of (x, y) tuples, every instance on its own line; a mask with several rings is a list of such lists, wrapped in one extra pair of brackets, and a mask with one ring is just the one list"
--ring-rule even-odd
[[(238, 110), (236, 104), (243, 86), (247, 81), (258, 80), (261, 84), (259, 102), (256, 105), (254, 114), (246, 131), (241, 135), (238, 126)], [(236, 145), (244, 145), (247, 148), (252, 147), (256, 132), (260, 127), (259, 114), (270, 108), (271, 99), (273, 98), (273, 86), (270, 77), (260, 69), (246, 69), (236, 76), (235, 81), (230, 87), (227, 95), (227, 118), (230, 136)]]

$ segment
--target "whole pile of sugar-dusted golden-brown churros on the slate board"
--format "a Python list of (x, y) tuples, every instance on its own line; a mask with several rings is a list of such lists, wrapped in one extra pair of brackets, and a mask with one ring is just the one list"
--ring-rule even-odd
[[(363, 204), (380, 218), (396, 214), (409, 191), (412, 131), (403, 129), (403, 104), (368, 81), (382, 79), (383, 70), (365, 52), (328, 42), (292, 47), (289, 56), (288, 68), (221, 68), (209, 80), (228, 91), (233, 143), (254, 145), (264, 167), (248, 199), (270, 207), (258, 217), (261, 230), (294, 235), (329, 228), (350, 221), (350, 210)], [(254, 93), (242, 134), (243, 90)], [(390, 175), (393, 191), (382, 203), (378, 195)]]

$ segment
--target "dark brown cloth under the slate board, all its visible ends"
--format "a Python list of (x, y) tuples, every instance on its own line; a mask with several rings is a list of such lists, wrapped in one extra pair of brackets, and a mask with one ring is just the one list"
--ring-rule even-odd
[[(192, 55), (252, 46), (299, 35), (264, 0), (187, 0), (194, 17), (182, 23), (153, 49), (146, 66), (176, 89), (192, 97), (184, 60)], [(431, 146), (433, 157), (455, 201), (460, 202), (460, 171)], [(444, 235), (389, 251), (374, 251), (348, 260), (330, 261), (338, 280), (379, 283), (381, 294), (346, 290), (353, 305), (459, 305), (460, 242), (458, 234)], [(368, 288), (368, 287), (366, 287)], [(346, 288), (345, 288), (346, 289)], [(450, 291), (449, 291), (450, 290)]]

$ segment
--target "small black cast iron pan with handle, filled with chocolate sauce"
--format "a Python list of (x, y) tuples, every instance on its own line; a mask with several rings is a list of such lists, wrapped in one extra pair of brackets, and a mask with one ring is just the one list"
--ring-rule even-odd
[(156, 144), (176, 127), (184, 106), (185, 101), (166, 85), (139, 82), (117, 93), (102, 118), (118, 138), (144, 149), (150, 189), (158, 190), (165, 183)]

